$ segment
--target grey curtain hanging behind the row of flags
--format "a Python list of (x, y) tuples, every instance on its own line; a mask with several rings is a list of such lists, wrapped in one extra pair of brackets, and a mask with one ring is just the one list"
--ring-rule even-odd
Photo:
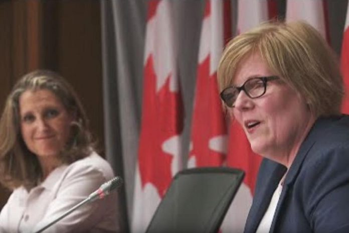
[[(188, 155), (191, 114), (196, 81), (198, 49), (204, 1), (173, 1), (179, 41), (179, 76), (185, 103), (183, 154)], [(327, 1), (330, 44), (340, 53), (347, 1)], [(285, 17), (286, 1), (277, 1), (279, 18)], [(237, 0), (231, 0), (232, 31), (236, 27)], [(147, 1), (101, 1), (103, 98), (106, 157), (125, 179), (121, 202), (124, 216), (132, 216), (133, 182), (140, 131), (143, 50)], [(185, 156), (186, 157), (186, 156)], [(184, 162), (187, 158), (183, 158)], [(126, 217), (127, 216), (127, 217)], [(127, 226), (125, 226), (127, 227)]]

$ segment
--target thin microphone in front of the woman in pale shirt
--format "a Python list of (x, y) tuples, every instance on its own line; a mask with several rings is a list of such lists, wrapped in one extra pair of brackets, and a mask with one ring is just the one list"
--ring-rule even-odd
[(40, 232), (46, 230), (47, 228), (49, 228), (50, 226), (52, 226), (53, 224), (55, 224), (56, 222), (58, 222), (59, 220), (61, 220), (62, 218), (64, 218), (68, 214), (70, 214), (71, 212), (73, 212), (75, 209), (79, 208), (80, 206), (82, 206), (82, 205), (84, 205), (86, 203), (93, 202), (93, 201), (95, 201), (97, 199), (103, 199), (105, 196), (109, 195), (110, 192), (112, 192), (117, 187), (119, 187), (122, 183), (123, 183), (122, 178), (119, 177), (119, 176), (116, 176), (113, 179), (103, 183), (96, 191), (91, 193), (83, 201), (81, 201), (77, 205), (73, 206), (72, 208), (70, 208), (69, 210), (64, 212), (61, 216), (59, 216), (58, 218), (56, 218), (53, 221), (51, 221), (48, 224), (46, 224), (44, 227), (42, 227), (39, 230), (35, 231), (35, 233), (40, 233)]

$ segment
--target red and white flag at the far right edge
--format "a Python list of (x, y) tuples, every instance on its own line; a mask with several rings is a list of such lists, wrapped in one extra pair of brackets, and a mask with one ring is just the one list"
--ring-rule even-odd
[(343, 42), (341, 48), (340, 68), (344, 79), (345, 96), (342, 104), (342, 112), (349, 113), (349, 5), (346, 10)]

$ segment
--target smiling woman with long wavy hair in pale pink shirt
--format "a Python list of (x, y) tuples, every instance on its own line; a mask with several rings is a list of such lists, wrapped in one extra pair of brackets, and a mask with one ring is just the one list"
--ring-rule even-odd
[[(24, 75), (0, 120), (0, 182), (13, 190), (0, 213), (0, 231), (34, 232), (113, 176), (94, 152), (85, 111), (71, 85), (49, 70)], [(116, 232), (114, 203), (112, 195), (86, 205), (49, 230)]]

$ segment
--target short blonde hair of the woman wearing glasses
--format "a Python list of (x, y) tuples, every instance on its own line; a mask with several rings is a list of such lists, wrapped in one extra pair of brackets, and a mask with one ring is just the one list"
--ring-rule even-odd
[(255, 52), (304, 97), (315, 117), (340, 114), (344, 91), (337, 58), (312, 26), (267, 22), (233, 38), (217, 71), (220, 91), (232, 85), (239, 63)]

